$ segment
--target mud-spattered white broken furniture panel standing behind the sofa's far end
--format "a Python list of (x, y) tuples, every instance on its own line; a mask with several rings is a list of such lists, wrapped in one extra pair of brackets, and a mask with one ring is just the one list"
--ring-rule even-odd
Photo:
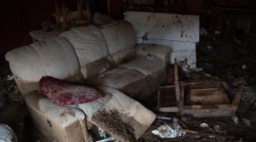
[(137, 43), (157, 44), (172, 49), (170, 63), (184, 61), (197, 67), (196, 44), (199, 42), (199, 16), (146, 12), (125, 14), (136, 32)]

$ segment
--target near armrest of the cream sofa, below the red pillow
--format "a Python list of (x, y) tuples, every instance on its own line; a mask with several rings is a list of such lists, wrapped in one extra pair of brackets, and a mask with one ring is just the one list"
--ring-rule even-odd
[(92, 141), (92, 127), (80, 109), (57, 106), (39, 93), (25, 96), (28, 111), (36, 127), (49, 141)]

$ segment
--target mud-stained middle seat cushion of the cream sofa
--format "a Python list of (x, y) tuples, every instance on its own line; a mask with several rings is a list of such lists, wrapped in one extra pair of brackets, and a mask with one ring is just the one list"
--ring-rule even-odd
[(111, 86), (124, 94), (137, 97), (147, 93), (146, 77), (135, 70), (113, 68), (87, 82), (91, 86)]

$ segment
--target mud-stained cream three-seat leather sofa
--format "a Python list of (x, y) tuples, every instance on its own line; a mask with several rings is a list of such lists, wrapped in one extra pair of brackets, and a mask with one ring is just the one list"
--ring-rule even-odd
[[(116, 109), (139, 138), (155, 114), (146, 101), (165, 82), (167, 46), (136, 44), (127, 21), (80, 26), (6, 53), (5, 59), (38, 130), (49, 141), (91, 141), (92, 117), (102, 109)], [(42, 76), (92, 86), (105, 94), (90, 103), (57, 106), (38, 91)], [(83, 110), (83, 111), (82, 111)]]

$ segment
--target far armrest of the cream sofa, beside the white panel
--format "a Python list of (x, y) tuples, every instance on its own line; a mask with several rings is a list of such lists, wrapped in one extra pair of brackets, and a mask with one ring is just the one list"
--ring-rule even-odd
[(138, 44), (135, 46), (136, 56), (153, 55), (163, 59), (166, 63), (169, 62), (171, 48), (155, 44)]

